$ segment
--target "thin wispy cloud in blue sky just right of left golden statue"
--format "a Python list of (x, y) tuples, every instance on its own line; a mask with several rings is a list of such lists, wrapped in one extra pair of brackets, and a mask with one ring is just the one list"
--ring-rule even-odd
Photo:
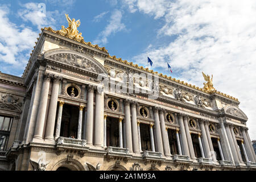
[(119, 10), (114, 10), (110, 16), (108, 25), (103, 31), (98, 34), (97, 39), (94, 40), (96, 44), (106, 44), (108, 43), (108, 37), (115, 34), (116, 32), (125, 30), (125, 24), (121, 23), (122, 13)]

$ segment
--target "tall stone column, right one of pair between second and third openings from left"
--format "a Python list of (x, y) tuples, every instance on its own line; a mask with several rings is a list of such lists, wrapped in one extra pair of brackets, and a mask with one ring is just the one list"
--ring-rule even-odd
[(137, 127), (137, 112), (136, 112), (136, 102), (131, 104), (131, 127), (133, 133), (133, 152), (139, 153), (139, 140), (138, 140), (138, 127)]

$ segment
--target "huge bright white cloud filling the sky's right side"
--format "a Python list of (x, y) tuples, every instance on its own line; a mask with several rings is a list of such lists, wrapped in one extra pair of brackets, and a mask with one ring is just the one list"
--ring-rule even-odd
[[(132, 11), (162, 18), (165, 24), (158, 36), (173, 36), (173, 42), (162, 47), (151, 46), (135, 56), (144, 64), (145, 57), (153, 65), (166, 69), (171, 60), (173, 72), (191, 84), (203, 87), (201, 71), (213, 74), (217, 90), (237, 97), (247, 114), (249, 134), (256, 139), (256, 4), (255, 1), (156, 1), (126, 3)], [(151, 5), (151, 6), (149, 6)]]

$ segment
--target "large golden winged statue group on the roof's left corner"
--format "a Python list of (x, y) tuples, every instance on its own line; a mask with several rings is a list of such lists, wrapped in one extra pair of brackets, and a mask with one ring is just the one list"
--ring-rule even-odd
[(61, 26), (61, 30), (59, 30), (60, 35), (67, 36), (69, 39), (76, 39), (77, 41), (81, 42), (82, 39), (82, 33), (79, 33), (77, 30), (77, 27), (80, 26), (81, 22), (79, 20), (75, 20), (74, 18), (71, 20), (69, 18), (68, 14), (65, 14), (66, 19), (68, 21), (68, 28), (65, 28), (65, 26)]

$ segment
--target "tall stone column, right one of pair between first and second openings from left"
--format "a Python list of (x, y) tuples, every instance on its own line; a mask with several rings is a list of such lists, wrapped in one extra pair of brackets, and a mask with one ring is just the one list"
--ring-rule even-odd
[(95, 97), (95, 125), (94, 125), (94, 145), (103, 147), (104, 145), (104, 94), (98, 88)]

